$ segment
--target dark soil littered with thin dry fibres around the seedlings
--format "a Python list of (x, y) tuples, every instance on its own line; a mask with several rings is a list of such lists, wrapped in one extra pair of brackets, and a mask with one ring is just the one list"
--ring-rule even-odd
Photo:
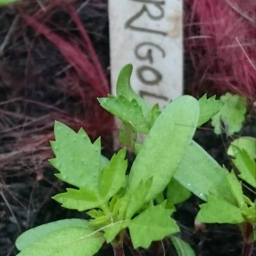
[[(81, 9), (79, 14), (108, 73), (107, 6), (101, 1), (90, 2), (92, 4)], [(79, 9), (82, 4), (76, 1), (74, 5)], [(31, 10), (28, 12), (32, 13), (38, 8), (32, 3), (29, 6)], [(17, 13), (16, 8), (0, 9), (1, 42), (6, 38)], [(70, 17), (61, 8), (51, 17), (51, 22), (65, 28), (65, 33), (76, 33)], [(28, 58), (31, 43), (33, 47)], [(185, 65), (185, 70), (188, 70), (189, 60)], [(28, 228), (63, 218), (88, 217), (84, 212), (61, 208), (51, 200), (53, 195), (65, 189), (65, 184), (56, 179), (56, 171), (47, 163), (52, 156), (48, 141), (52, 138), (53, 120), (62, 115), (62, 111), (65, 115), (81, 117), (81, 105), (78, 104), (81, 98), (68, 94), (66, 88), (60, 89), (60, 80), (66, 78), (66, 73), (62, 71), (67, 66), (67, 61), (52, 43), (43, 36), (35, 37), (31, 28), (27, 28), (22, 20), (18, 21), (0, 59), (0, 256), (16, 255), (15, 239)], [(20, 98), (27, 101), (17, 100)], [(6, 101), (10, 103), (6, 104)], [(56, 108), (55, 115), (49, 115), (49, 110), (52, 110), (49, 106)], [(80, 124), (73, 125), (72, 119), (67, 120), (75, 129)], [(255, 136), (255, 130), (255, 113), (251, 113), (238, 136)], [(33, 133), (44, 139), (32, 140)], [(95, 139), (99, 133), (100, 130), (96, 131), (92, 137)], [(211, 125), (207, 124), (204, 129), (197, 130), (195, 140), (220, 164), (230, 167), (225, 152), (231, 138), (226, 137), (225, 132), (216, 136)], [(24, 148), (24, 145), (27, 147)], [(37, 145), (36, 150), (33, 145)], [(107, 157), (113, 154), (112, 138), (108, 132), (103, 134), (103, 154)], [(134, 156), (129, 153), (127, 157), (131, 163)], [(249, 191), (247, 193), (252, 196)], [(181, 238), (191, 244), (198, 256), (240, 256), (242, 237), (237, 226), (201, 224), (195, 227), (200, 203), (200, 199), (192, 196), (178, 205), (173, 216), (181, 227)], [(141, 254), (162, 256), (163, 249), (165, 255), (176, 255), (168, 239), (163, 243), (153, 243), (149, 251), (141, 251)], [(132, 255), (126, 245), (125, 251), (126, 255)], [(97, 255), (111, 256), (112, 248), (104, 245)]]

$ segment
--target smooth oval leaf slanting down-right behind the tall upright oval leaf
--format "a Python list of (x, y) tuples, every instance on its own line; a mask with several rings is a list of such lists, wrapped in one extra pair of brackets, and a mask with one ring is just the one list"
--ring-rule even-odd
[(236, 199), (227, 189), (227, 170), (223, 168), (196, 142), (188, 146), (185, 156), (173, 178), (204, 201), (212, 194), (236, 204)]

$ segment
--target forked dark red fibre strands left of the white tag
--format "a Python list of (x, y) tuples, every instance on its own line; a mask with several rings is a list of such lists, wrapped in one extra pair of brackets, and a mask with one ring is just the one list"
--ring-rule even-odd
[[(55, 115), (56, 119), (62, 120), (73, 127), (75, 126), (75, 128), (75, 124), (77, 124), (77, 127), (82, 126), (90, 135), (95, 137), (96, 133), (104, 133), (104, 130), (110, 132), (112, 128), (112, 118), (100, 108), (96, 100), (97, 97), (106, 96), (110, 92), (110, 88), (98, 56), (79, 16), (71, 5), (67, 6), (67, 10), (81, 32), (84, 44), (82, 47), (75, 40), (67, 41), (63, 39), (58, 34), (52, 32), (46, 25), (39, 23), (34, 17), (22, 15), (22, 18), (28, 26), (32, 27), (37, 33), (43, 34), (50, 42), (55, 44), (62, 56), (65, 57), (74, 69), (73, 71), (66, 72), (68, 81), (72, 81), (71, 88), (69, 89), (71, 89), (72, 94), (81, 97), (85, 109), (86, 105), (90, 103), (90, 108), (87, 109), (86, 113), (84, 112), (85, 116), (81, 117), (86, 118), (89, 115), (90, 118), (89, 120), (87, 119), (87, 122), (85, 122), (85, 119), (79, 120), (71, 116), (66, 116), (65, 118), (65, 116), (59, 113)], [(90, 87), (89, 97), (88, 86)]]

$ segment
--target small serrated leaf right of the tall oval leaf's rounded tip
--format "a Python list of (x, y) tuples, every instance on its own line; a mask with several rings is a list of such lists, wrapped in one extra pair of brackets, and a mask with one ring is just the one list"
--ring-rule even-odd
[(215, 100), (215, 95), (207, 99), (206, 94), (204, 94), (199, 100), (200, 114), (197, 123), (197, 127), (200, 127), (204, 123), (208, 122), (211, 117), (216, 115), (224, 103), (220, 100)]

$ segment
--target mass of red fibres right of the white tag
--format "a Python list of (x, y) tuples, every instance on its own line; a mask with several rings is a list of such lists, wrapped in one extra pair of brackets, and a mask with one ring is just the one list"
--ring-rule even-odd
[(226, 91), (255, 100), (255, 1), (186, 0), (186, 47), (194, 94)]

